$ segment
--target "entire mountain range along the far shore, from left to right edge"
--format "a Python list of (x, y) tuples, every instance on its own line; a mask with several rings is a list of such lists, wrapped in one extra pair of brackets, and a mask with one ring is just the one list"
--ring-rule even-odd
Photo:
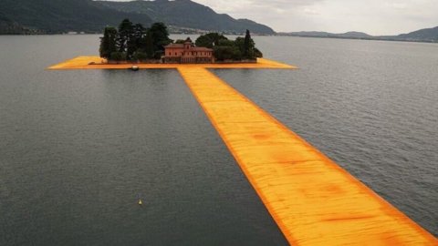
[[(212, 8), (191, 0), (1, 0), (0, 34), (57, 34), (69, 31), (101, 33), (104, 26), (117, 26), (121, 19), (127, 17), (132, 22), (144, 26), (162, 21), (175, 33), (218, 31), (240, 34), (249, 29), (254, 34), (276, 34), (269, 26), (248, 19), (235, 19), (230, 15), (217, 14)], [(290, 32), (276, 35), (438, 42), (438, 26), (399, 36), (370, 36), (361, 32)]]

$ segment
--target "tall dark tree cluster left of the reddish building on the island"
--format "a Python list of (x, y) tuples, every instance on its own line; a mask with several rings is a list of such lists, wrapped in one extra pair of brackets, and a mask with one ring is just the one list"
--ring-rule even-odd
[(119, 28), (105, 27), (100, 37), (100, 56), (111, 61), (160, 59), (164, 46), (172, 43), (167, 26), (154, 23), (150, 28), (124, 19)]

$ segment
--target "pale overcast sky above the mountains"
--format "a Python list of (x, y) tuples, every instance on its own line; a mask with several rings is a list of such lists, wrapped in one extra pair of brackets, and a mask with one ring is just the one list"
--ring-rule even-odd
[[(129, 1), (129, 0), (119, 0)], [(193, 0), (277, 32), (398, 35), (438, 26), (438, 0)]]

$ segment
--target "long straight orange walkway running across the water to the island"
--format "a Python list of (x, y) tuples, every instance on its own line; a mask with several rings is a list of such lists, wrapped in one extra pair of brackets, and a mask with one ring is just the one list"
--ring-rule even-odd
[(178, 67), (293, 245), (438, 245), (419, 225), (202, 67)]

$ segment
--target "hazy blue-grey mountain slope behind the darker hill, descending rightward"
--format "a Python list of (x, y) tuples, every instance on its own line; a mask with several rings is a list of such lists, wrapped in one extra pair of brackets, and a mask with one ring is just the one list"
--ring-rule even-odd
[(154, 22), (164, 22), (170, 26), (226, 33), (245, 33), (245, 30), (249, 29), (255, 34), (275, 34), (269, 26), (248, 19), (235, 19), (230, 15), (217, 14), (210, 7), (191, 0), (99, 1), (98, 3), (129, 14), (149, 15)]

